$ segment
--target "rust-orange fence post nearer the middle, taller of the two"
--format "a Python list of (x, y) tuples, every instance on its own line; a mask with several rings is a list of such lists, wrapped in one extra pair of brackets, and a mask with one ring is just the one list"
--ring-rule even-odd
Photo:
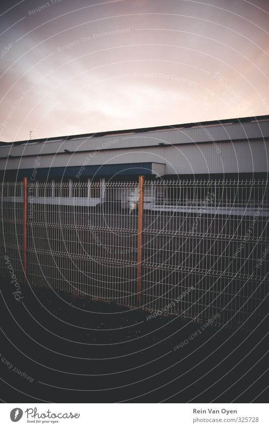
[(138, 239), (137, 239), (137, 306), (141, 306), (141, 281), (142, 281), (142, 229), (144, 208), (144, 177), (139, 175), (139, 199), (138, 199)]

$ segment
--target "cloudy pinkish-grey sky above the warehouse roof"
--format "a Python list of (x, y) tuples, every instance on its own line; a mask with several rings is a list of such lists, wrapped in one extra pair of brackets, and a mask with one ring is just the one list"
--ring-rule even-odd
[(269, 114), (269, 2), (0, 6), (0, 141)]

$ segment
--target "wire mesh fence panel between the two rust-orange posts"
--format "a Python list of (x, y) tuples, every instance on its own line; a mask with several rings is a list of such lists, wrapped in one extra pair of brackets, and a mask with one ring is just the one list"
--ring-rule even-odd
[(47, 199), (29, 219), (29, 282), (135, 307), (137, 217), (121, 195), (136, 185), (107, 184), (102, 200), (100, 183), (31, 188)]

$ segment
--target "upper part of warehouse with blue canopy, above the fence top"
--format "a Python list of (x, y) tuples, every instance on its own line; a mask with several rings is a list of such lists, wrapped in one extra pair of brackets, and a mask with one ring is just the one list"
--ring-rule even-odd
[(39, 182), (265, 178), (268, 139), (264, 115), (0, 143), (0, 173)]

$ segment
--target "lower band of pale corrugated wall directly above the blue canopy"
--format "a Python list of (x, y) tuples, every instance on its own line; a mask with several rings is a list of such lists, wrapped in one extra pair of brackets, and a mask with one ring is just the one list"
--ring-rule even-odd
[[(115, 149), (117, 146), (115, 145)], [(166, 164), (166, 174), (208, 174), (268, 171), (269, 140), (237, 141), (218, 143), (218, 152), (213, 143), (201, 145), (157, 146), (92, 153), (88, 165), (121, 164), (128, 162), (157, 162)], [(40, 168), (78, 166), (88, 152), (42, 155)], [(0, 160), (0, 169), (34, 167), (36, 156)]]

